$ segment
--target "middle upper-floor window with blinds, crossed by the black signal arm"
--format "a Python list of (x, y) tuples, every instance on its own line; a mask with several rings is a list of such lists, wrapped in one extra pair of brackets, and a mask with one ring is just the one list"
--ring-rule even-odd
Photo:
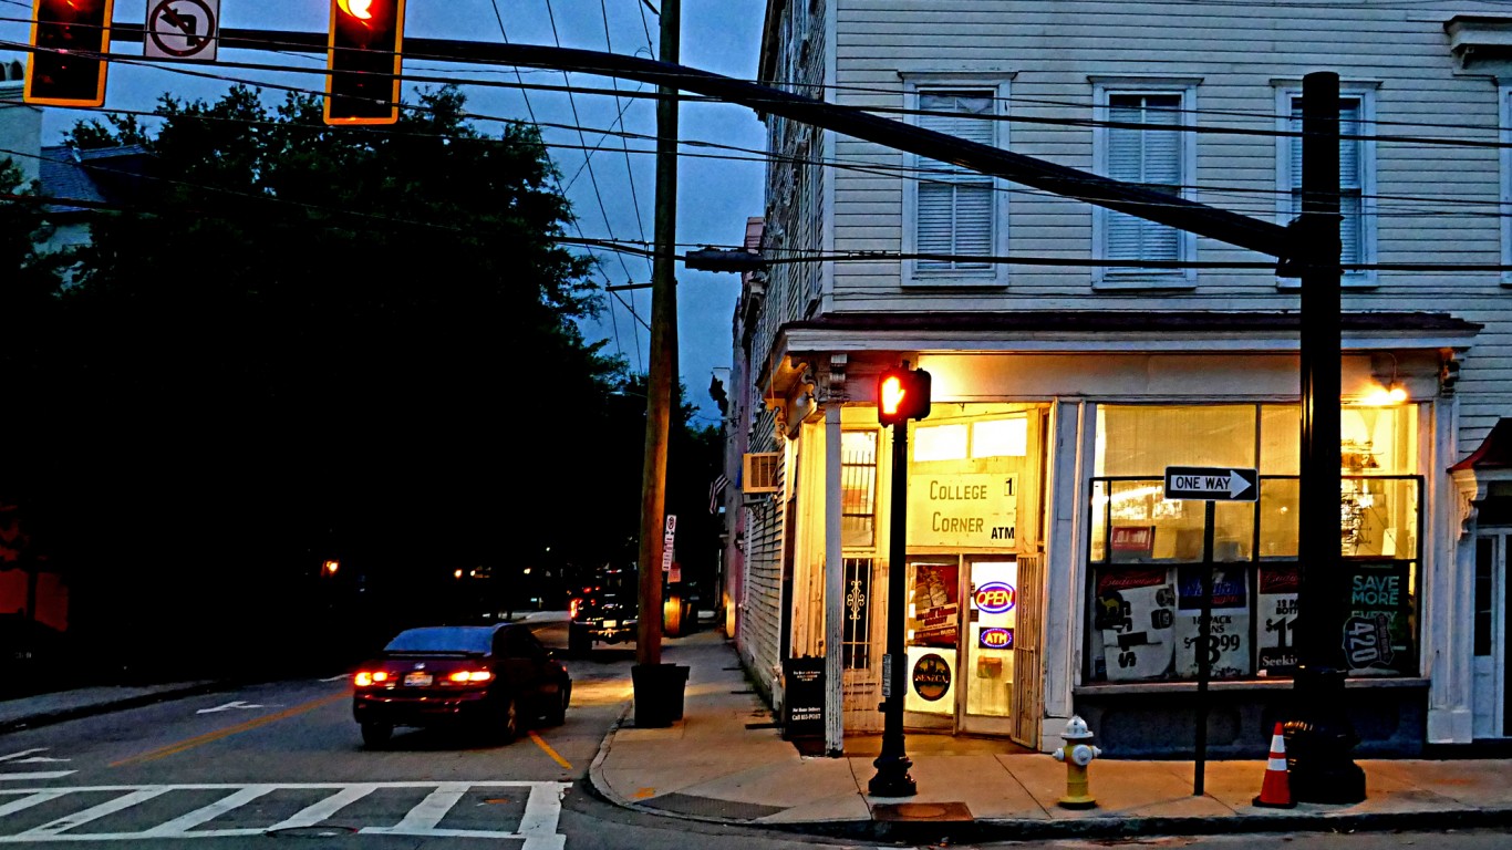
[[(1096, 88), (1093, 130), (1098, 171), (1172, 197), (1185, 197), (1193, 183), (1194, 144), (1179, 127), (1191, 109), (1194, 86), (1167, 82), (1139, 88), (1102, 83)], [(1096, 256), (1110, 260), (1190, 260), (1193, 234), (1123, 212), (1098, 207)], [(1119, 286), (1190, 286), (1193, 269), (1105, 266), (1096, 283)]]

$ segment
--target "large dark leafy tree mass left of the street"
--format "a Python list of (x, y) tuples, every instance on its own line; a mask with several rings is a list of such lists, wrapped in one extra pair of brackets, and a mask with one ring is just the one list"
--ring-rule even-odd
[[(479, 133), (451, 88), (419, 104), (333, 129), (237, 88), (71, 133), (153, 157), (26, 312), (51, 334), (17, 481), (68, 516), (86, 622), (262, 635), (358, 590), (419, 616), (455, 569), (634, 532), (602, 517), (638, 505), (644, 395), (578, 331), (590, 260), (538, 136)], [(311, 584), (325, 558), (345, 584)]]

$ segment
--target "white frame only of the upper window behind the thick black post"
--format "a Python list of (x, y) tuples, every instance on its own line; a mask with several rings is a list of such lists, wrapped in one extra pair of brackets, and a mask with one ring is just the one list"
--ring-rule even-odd
[[(1340, 98), (1359, 101), (1359, 135), (1368, 136), (1359, 144), (1359, 263), (1376, 262), (1379, 218), (1376, 215), (1376, 83), (1341, 82)], [(1276, 88), (1276, 224), (1285, 227), (1291, 221), (1291, 145), (1302, 144), (1290, 136), (1291, 101), (1302, 97), (1299, 82), (1287, 82)], [(1374, 269), (1344, 271), (1340, 275), (1343, 287), (1373, 287), (1377, 284)], [(1276, 278), (1278, 289), (1300, 289), (1299, 278)]]

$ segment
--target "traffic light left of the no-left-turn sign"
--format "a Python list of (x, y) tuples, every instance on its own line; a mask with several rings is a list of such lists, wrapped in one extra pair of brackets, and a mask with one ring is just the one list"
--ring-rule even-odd
[(51, 106), (104, 106), (101, 59), (110, 51), (115, 0), (35, 0), (32, 47), (21, 100)]

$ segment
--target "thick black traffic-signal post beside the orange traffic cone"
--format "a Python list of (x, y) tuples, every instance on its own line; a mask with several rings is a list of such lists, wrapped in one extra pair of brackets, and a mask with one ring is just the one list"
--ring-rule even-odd
[(1306, 803), (1358, 803), (1365, 774), (1344, 712), (1344, 564), (1340, 558), (1340, 204), (1338, 74), (1302, 79), (1302, 463), (1297, 510), (1300, 664), (1287, 753), (1291, 791)]

